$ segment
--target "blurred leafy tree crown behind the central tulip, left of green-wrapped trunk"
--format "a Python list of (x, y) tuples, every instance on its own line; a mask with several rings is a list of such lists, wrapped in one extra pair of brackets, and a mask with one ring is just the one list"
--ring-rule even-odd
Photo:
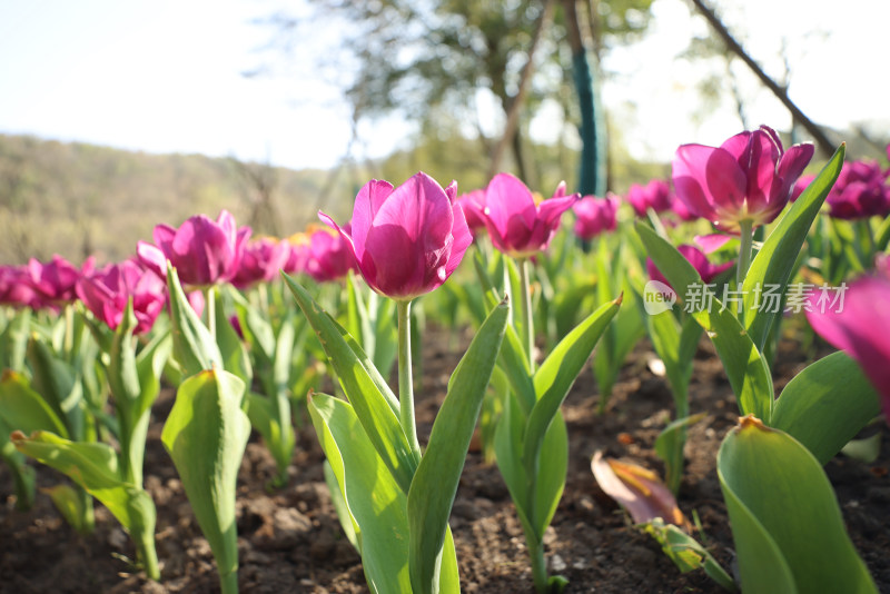
[[(308, 12), (260, 22), (271, 40), (248, 75), (288, 76), (295, 62), (316, 60), (348, 99), (356, 128), (365, 118), (412, 122), (414, 147), (376, 166), (382, 177), (423, 167), (447, 182), (459, 171), (472, 189), (496, 167), (536, 189), (564, 177), (575, 187), (581, 115), (567, 27), (578, 26), (596, 82), (599, 58), (645, 32), (652, 0), (570, 2), (572, 11), (553, 0), (309, 0)], [(322, 39), (332, 20), (334, 46)], [(541, 128), (546, 139), (536, 138)], [(501, 146), (511, 149), (503, 162)]]

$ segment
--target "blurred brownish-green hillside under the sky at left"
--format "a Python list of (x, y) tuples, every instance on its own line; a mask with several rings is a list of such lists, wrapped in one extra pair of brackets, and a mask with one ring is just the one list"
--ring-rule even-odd
[(316, 221), (318, 208), (348, 217), (355, 188), (342, 177), (0, 135), (0, 264), (52, 254), (116, 261), (158, 222), (216, 218), (224, 208), (255, 234), (291, 235)]

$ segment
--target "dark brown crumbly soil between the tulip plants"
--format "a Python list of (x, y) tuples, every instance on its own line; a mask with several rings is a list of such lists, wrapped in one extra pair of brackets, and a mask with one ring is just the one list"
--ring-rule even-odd
[[(429, 330), (424, 343), (424, 382), (417, 415), (422, 442), (445, 396), (457, 356), (444, 350), (443, 333)], [(794, 345), (784, 345), (777, 365), (782, 386), (804, 365)], [(597, 487), (590, 469), (596, 449), (662, 471), (653, 443), (665, 425), (672, 399), (665, 382), (647, 362), (654, 353), (637, 345), (622, 369), (605, 415), (595, 414), (600, 395), (590, 369), (578, 378), (563, 414), (568, 425), (568, 477), (546, 536), (552, 571), (570, 580), (568, 593), (722, 592), (702, 572), (681, 575), (659, 545), (632, 527), (624, 513)], [(732, 571), (732, 534), (714, 461), (736, 422), (734, 398), (710, 344), (696, 355), (691, 386), (692, 413), (709, 416), (689, 432), (688, 467), (679, 497), (689, 516), (696, 511), (710, 551)], [(154, 408), (146, 455), (146, 486), (158, 508), (157, 547), (162, 582), (147, 582), (128, 561), (132, 545), (99, 504), (97, 529), (73, 532), (39, 494), (33, 509), (13, 509), (11, 479), (0, 467), (0, 592), (215, 592), (218, 580), (207, 542), (160, 444), (164, 418), (172, 405), (165, 393)], [(890, 591), (890, 443), (887, 427), (879, 459), (863, 464), (843, 455), (825, 471), (835, 487), (853, 543), (878, 587)], [(343, 536), (325, 485), (323, 453), (310, 425), (299, 432), (288, 484), (267, 487), (275, 474), (271, 456), (255, 435), (238, 476), (239, 581), (246, 593), (367, 592), (362, 563)], [(39, 468), (39, 484), (65, 481)], [(451, 522), (464, 592), (532, 593), (522, 527), (497, 468), (469, 454)]]

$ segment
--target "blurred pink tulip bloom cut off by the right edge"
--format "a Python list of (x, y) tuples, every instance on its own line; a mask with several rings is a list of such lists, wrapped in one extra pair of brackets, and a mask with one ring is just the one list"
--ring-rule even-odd
[(847, 287), (842, 301), (819, 306), (810, 296), (807, 319), (834, 347), (856, 359), (881, 396), (890, 422), (890, 256), (878, 259), (876, 273)]

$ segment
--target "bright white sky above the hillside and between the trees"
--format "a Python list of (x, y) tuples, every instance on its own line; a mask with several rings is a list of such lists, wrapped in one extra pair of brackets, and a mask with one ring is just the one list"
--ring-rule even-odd
[[(256, 50), (268, 40), (268, 31), (250, 20), (281, 4), (0, 2), (0, 132), (151, 152), (268, 158), (293, 168), (333, 166), (346, 149), (349, 126), (348, 109), (332, 89), (313, 80), (241, 76), (258, 66)], [(720, 6), (767, 66), (775, 67), (780, 39), (788, 38), (790, 93), (811, 118), (835, 128), (879, 121), (888, 133), (890, 1), (722, 0)], [(723, 8), (730, 6), (740, 8)], [(698, 127), (689, 123), (700, 109), (695, 76), (673, 56), (689, 36), (705, 32), (706, 23), (690, 19), (683, 0), (655, 0), (654, 10), (650, 39), (614, 53), (607, 63), (627, 76), (606, 87), (605, 102), (625, 115), (626, 106), (636, 103), (627, 141), (634, 154), (666, 160), (671, 147), (719, 143), (741, 125), (732, 111)], [(830, 37), (803, 37), (819, 28)], [(752, 126), (787, 128), (790, 122), (767, 93), (752, 102), (749, 115)], [(376, 139), (367, 146), (370, 155), (385, 154), (404, 133), (404, 127), (389, 126), (384, 133), (366, 135)]]

